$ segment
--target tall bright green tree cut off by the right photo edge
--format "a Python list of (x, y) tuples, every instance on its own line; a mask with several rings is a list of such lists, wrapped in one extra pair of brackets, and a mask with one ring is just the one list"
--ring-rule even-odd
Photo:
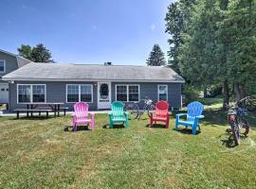
[(256, 1), (229, 1), (219, 25), (226, 42), (228, 76), (240, 100), (256, 88)]

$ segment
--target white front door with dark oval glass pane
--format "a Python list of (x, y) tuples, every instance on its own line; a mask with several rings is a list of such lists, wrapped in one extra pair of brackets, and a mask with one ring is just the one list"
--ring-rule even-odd
[(110, 109), (111, 83), (98, 82), (98, 109)]

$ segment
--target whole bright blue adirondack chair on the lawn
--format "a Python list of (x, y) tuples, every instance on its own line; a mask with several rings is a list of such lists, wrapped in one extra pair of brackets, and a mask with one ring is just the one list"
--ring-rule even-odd
[[(205, 116), (202, 115), (202, 112), (204, 111), (204, 106), (200, 102), (192, 102), (188, 105), (188, 113), (179, 113), (176, 114), (176, 129), (178, 129), (178, 125), (186, 126), (186, 129), (188, 127), (192, 127), (192, 134), (196, 133), (196, 128), (199, 126), (199, 119), (204, 118)], [(183, 121), (179, 118), (181, 116), (187, 116), (187, 120)]]

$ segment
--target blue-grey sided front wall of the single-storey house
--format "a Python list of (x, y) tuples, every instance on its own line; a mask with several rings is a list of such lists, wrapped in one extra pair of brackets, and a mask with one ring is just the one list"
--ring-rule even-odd
[[(26, 108), (24, 104), (17, 104), (17, 84), (46, 84), (46, 102), (64, 102), (64, 106), (73, 110), (74, 103), (66, 103), (66, 84), (93, 84), (93, 102), (89, 103), (90, 110), (97, 110), (98, 107), (98, 89), (97, 82), (44, 82), (44, 81), (15, 81), (9, 83), (9, 110), (12, 112), (17, 108)], [(150, 97), (154, 103), (157, 102), (157, 85), (168, 85), (168, 101), (174, 108), (180, 108), (181, 104), (181, 83), (111, 83), (111, 97), (112, 101), (116, 100), (116, 84), (138, 84), (140, 95), (143, 99), (145, 96)], [(143, 102), (140, 102), (140, 107), (143, 107)]]

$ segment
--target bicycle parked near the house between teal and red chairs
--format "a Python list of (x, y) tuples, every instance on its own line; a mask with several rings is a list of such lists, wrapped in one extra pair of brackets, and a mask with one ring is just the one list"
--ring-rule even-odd
[[(144, 101), (143, 109), (140, 111), (138, 104)], [(144, 112), (147, 112), (150, 117), (150, 112), (155, 110), (155, 106), (153, 105), (153, 100), (150, 98), (141, 99), (139, 102), (128, 102), (125, 104), (124, 110), (129, 112), (129, 119), (140, 119), (141, 115)]]

